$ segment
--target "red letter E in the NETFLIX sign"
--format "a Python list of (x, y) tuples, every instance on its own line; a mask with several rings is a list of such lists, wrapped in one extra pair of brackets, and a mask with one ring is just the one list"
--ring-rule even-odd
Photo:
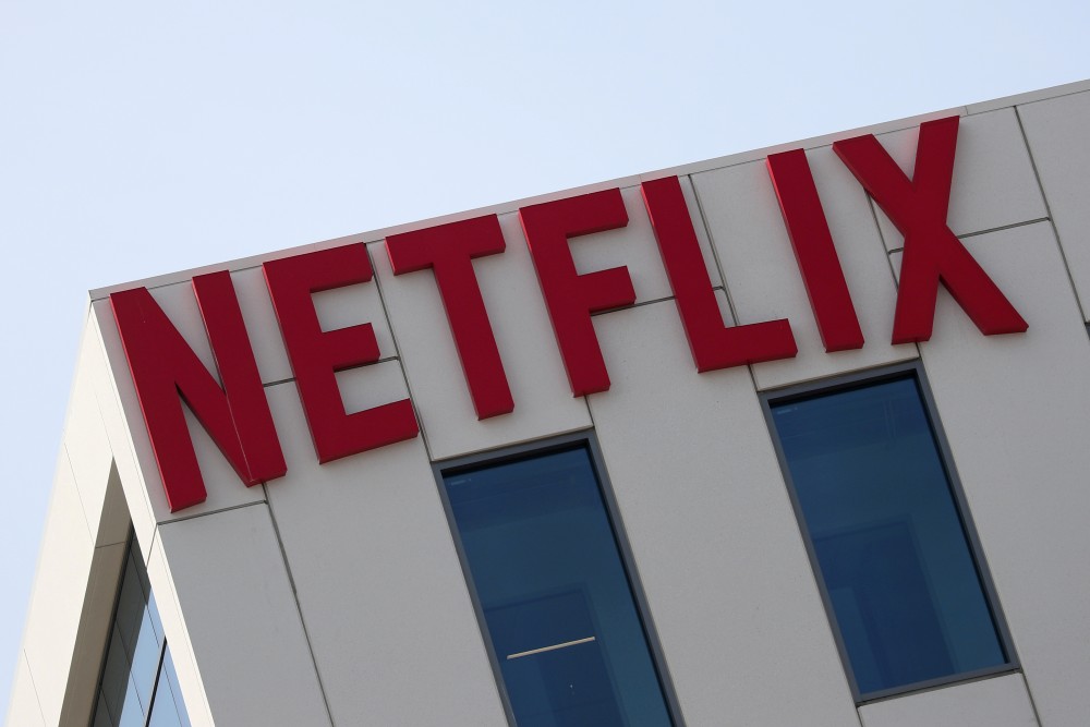
[(332, 247), (263, 267), (318, 461), (415, 437), (420, 427), (408, 399), (344, 412), (334, 373), (378, 361), (378, 341), (370, 323), (323, 331), (314, 310), (312, 293), (371, 280), (366, 247)]

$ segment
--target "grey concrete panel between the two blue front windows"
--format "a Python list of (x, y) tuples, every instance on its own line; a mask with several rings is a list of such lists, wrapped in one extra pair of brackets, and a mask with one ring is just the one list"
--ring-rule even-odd
[(698, 374), (668, 301), (596, 323), (591, 414), (687, 723), (856, 724), (749, 371)]

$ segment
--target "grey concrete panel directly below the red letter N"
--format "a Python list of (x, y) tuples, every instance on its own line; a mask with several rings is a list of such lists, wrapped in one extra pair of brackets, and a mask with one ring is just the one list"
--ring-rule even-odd
[(216, 723), (330, 724), (268, 506), (156, 534)]

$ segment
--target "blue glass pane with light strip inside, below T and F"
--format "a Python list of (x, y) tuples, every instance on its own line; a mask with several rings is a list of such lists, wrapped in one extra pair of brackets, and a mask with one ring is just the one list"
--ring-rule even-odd
[(519, 727), (671, 724), (590, 452), (444, 486)]

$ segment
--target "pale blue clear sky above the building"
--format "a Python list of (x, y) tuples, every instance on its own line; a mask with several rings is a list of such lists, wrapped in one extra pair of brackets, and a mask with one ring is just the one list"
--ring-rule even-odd
[(0, 715), (88, 289), (1083, 80), (1088, 28), (1085, 0), (0, 0)]

